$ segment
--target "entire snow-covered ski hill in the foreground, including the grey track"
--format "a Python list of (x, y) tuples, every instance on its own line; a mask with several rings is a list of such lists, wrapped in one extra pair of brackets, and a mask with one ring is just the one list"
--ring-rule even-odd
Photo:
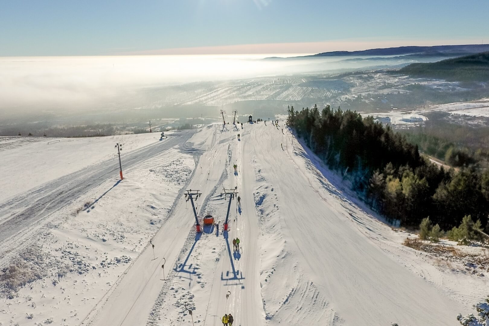
[[(0, 323), (216, 326), (231, 313), (238, 326), (460, 325), (488, 295), (486, 277), (404, 246), (415, 236), (384, 224), (282, 124), (55, 149), (11, 137), (0, 157)], [(114, 142), (126, 146), (122, 181)], [(27, 157), (37, 179), (18, 164)], [(200, 223), (215, 218), (203, 233), (190, 189)], [(222, 195), (232, 190), (239, 204)]]

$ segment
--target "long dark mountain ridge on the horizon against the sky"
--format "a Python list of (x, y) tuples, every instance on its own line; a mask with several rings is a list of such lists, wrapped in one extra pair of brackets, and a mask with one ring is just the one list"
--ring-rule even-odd
[(379, 56), (379, 55), (422, 55), (422, 56), (463, 56), (479, 52), (489, 51), (489, 44), (467, 44), (467, 45), (435, 45), (435, 46), (399, 46), (379, 49), (369, 49), (363, 51), (332, 51), (323, 52), (314, 55), (300, 57), (269, 57), (265, 60), (293, 60), (293, 59), (314, 59), (321, 57), (337, 57), (337, 56)]

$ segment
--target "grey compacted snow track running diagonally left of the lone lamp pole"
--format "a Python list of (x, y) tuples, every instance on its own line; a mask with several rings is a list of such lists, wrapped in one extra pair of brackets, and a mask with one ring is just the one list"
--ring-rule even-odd
[[(174, 147), (189, 151), (186, 144), (194, 130), (176, 132), (163, 141), (132, 152), (123, 153), (123, 171)], [(80, 153), (84, 155), (84, 153)], [(111, 160), (89, 166), (72, 174), (47, 182), (25, 194), (14, 196), (0, 204), (0, 268), (6, 266), (24, 243), (56, 212), (83, 196), (90, 189), (118, 175), (119, 162)], [(117, 183), (116, 183), (117, 184)], [(114, 184), (114, 186), (116, 185)]]

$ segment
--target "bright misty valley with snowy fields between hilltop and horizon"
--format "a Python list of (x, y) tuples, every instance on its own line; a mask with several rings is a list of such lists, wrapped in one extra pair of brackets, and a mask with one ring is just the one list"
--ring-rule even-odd
[(398, 71), (456, 53), (378, 54), (384, 52), (3, 57), (0, 135), (143, 132), (149, 120), (166, 130), (213, 121), (221, 109), (265, 119), (314, 104), (376, 113), (487, 94), (485, 83)]

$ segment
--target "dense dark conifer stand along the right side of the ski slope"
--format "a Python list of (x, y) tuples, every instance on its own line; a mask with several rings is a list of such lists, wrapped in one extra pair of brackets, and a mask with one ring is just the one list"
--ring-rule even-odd
[(445, 171), (405, 136), (354, 111), (290, 110), (289, 126), (388, 220), (418, 226), (424, 217), (448, 230), (471, 215), (488, 225), (489, 171)]

